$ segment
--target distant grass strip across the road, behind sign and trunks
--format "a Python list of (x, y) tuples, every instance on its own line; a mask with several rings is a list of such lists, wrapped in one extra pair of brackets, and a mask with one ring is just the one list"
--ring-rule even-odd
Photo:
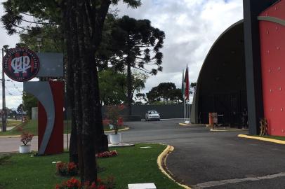
[[(28, 123), (21, 123), (21, 122), (17, 122), (15, 120), (8, 120), (8, 125), (9, 127), (11, 126), (18, 126), (18, 125), (22, 125), (23, 131), (24, 132), (30, 132), (34, 135), (38, 135), (38, 123), (37, 120), (29, 120)], [(125, 128), (125, 127), (122, 127)], [(121, 129), (121, 128), (120, 128)], [(70, 133), (71, 130), (71, 121), (64, 121), (64, 133)], [(105, 131), (110, 131), (110, 127), (104, 127)], [(13, 128), (13, 130), (7, 131), (7, 132), (0, 132), (0, 136), (2, 135), (20, 135), (22, 134), (21, 131), (17, 130), (17, 128)], [(1, 189), (1, 188), (0, 188)]]

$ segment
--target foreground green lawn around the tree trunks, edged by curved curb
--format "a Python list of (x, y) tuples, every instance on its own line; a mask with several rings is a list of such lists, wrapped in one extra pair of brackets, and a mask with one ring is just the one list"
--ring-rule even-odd
[[(152, 148), (140, 148), (151, 146)], [(159, 189), (181, 189), (162, 174), (157, 166), (157, 157), (166, 146), (159, 144), (136, 144), (126, 148), (115, 148), (119, 155), (99, 158), (98, 165), (104, 171), (102, 179), (113, 176), (117, 189), (127, 189), (128, 183), (153, 182)], [(114, 150), (110, 149), (110, 150)], [(53, 161), (68, 161), (68, 153), (31, 158), (30, 155), (13, 155), (10, 163), (0, 165), (0, 188), (54, 188), (65, 179), (55, 175)]]

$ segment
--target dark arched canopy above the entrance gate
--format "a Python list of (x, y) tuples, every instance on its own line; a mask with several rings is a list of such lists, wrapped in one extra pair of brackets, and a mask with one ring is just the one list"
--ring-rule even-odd
[[(191, 122), (198, 123), (204, 106), (201, 97), (246, 91), (244, 60), (244, 22), (240, 20), (227, 28), (213, 43), (201, 67), (191, 111)], [(214, 110), (212, 110), (214, 111)]]

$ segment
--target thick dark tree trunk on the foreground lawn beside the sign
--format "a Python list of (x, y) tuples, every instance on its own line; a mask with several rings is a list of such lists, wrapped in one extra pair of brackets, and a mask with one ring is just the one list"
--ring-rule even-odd
[(72, 132), (72, 137), (77, 137), (76, 146), (82, 182), (97, 181), (95, 148), (98, 151), (107, 150), (95, 52), (102, 39), (102, 27), (110, 3), (110, 0), (100, 1), (100, 6), (97, 8), (95, 3), (91, 6), (91, 1), (67, 0), (62, 3), (68, 13), (63, 20), (69, 23), (69, 27), (63, 26), (70, 31), (65, 40), (68, 42), (67, 46), (72, 46), (72, 49), (68, 50), (69, 59), (72, 60), (70, 64), (73, 64), (72, 71), (69, 71), (69, 81), (72, 80), (73, 85), (70, 89), (73, 90), (74, 99), (75, 126), (72, 130), (76, 127), (74, 130), (77, 131), (77, 135)]

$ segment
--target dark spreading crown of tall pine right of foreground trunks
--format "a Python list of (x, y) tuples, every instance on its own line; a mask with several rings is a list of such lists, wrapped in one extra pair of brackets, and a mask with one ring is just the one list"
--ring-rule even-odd
[[(124, 69), (127, 64), (147, 73), (157, 74), (162, 71), (162, 52), (165, 34), (151, 26), (150, 20), (135, 20), (124, 16), (114, 22), (112, 30), (111, 63), (117, 69)], [(157, 69), (148, 70), (145, 66), (155, 65)]]

